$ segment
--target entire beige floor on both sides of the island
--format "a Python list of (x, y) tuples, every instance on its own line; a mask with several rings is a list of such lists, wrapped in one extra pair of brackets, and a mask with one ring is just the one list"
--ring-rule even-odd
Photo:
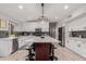
[[(20, 55), (25, 54), (25, 52), (22, 51), (20, 53), (16, 52), (13, 55), (10, 55), (7, 57), (0, 57), (0, 61), (23, 61), (22, 59), (24, 59), (24, 57), (22, 57), (22, 56), (20, 57)], [(27, 52), (26, 52), (26, 54), (27, 54)], [(19, 56), (16, 57), (15, 55), (16, 56), (19, 55)], [(23, 55), (23, 56), (25, 56), (25, 55)], [(58, 56), (58, 61), (86, 61), (85, 59), (81, 57), (76, 53), (70, 51), (66, 48), (60, 47), (60, 46), (58, 47), (58, 49), (54, 50), (54, 55)]]

